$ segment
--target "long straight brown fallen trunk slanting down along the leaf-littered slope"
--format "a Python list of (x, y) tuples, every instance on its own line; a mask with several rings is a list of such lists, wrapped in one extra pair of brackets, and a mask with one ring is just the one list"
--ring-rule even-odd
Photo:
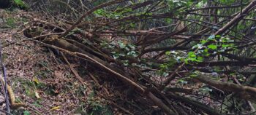
[[(91, 60), (97, 66), (104, 68), (106, 71), (109, 71), (110, 73), (118, 76), (118, 79), (120, 79), (121, 81), (132, 85), (137, 90), (139, 90), (141, 93), (145, 93), (145, 87), (130, 80), (129, 77), (127, 77), (127, 74), (124, 74), (125, 73), (124, 71), (121, 74), (119, 74), (118, 72), (115, 71), (115, 70), (121, 71), (118, 68), (112, 68), (108, 65), (108, 63), (99, 59), (98, 57), (95, 57), (95, 56), (89, 54), (88, 52), (83, 51), (82, 49), (65, 41), (64, 39), (58, 39), (58, 38), (59, 38), (58, 36), (51, 36), (51, 37), (45, 39), (44, 42), (53, 45), (53, 46), (47, 45), (48, 47), (53, 47), (55, 49), (59, 49), (62, 52), (68, 53), (69, 55), (76, 55), (78, 57), (83, 57), (83, 58)], [(168, 106), (165, 105), (165, 103), (162, 102), (162, 100), (157, 98), (152, 92), (146, 92), (145, 95), (148, 98), (150, 98), (157, 106), (164, 109), (167, 114), (175, 114), (172, 110), (170, 110), (170, 108)]]

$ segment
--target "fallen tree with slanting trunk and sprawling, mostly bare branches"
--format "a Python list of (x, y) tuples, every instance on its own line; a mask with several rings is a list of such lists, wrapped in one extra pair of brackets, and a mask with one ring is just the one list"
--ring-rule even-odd
[[(246, 78), (248, 73), (241, 74), (242, 70), (253, 70), (255, 66), (255, 40), (241, 31), (235, 31), (234, 28), (248, 20), (254, 20), (251, 18), (254, 15), (250, 13), (255, 8), (256, 1), (246, 2), (246, 7), (244, 4), (221, 6), (207, 1), (208, 7), (195, 8), (198, 2), (201, 1), (187, 3), (189, 7), (171, 6), (171, 12), (164, 12), (165, 7), (169, 5), (165, 4), (165, 1), (144, 1), (135, 4), (125, 0), (108, 1), (90, 9), (82, 7), (85, 11), (81, 10), (84, 11), (83, 14), (79, 14), (80, 17), (72, 22), (59, 19), (61, 23), (49, 23), (29, 17), (30, 26), (23, 30), (23, 33), (30, 40), (51, 47), (64, 55), (79, 57), (89, 63), (92, 71), (110, 74), (110, 81), (118, 79), (118, 82), (121, 81), (126, 87), (132, 87), (129, 90), (131, 93), (127, 95), (134, 94), (140, 99), (146, 98), (150, 105), (148, 108), (157, 106), (156, 108), (165, 111), (165, 114), (226, 114), (229, 111), (223, 112), (214, 108), (219, 106), (218, 104), (206, 106), (206, 103), (202, 103), (203, 99), (198, 99), (199, 96), (192, 98), (192, 95), (202, 94), (198, 89), (210, 85), (227, 95), (238, 94), (236, 96), (255, 102), (255, 87), (243, 84), (246, 80), (240, 83), (236, 79), (241, 75)], [(219, 6), (214, 7), (214, 4)], [(74, 4), (67, 4), (68, 7), (73, 7), (72, 5)], [(233, 9), (236, 13), (223, 16), (218, 12), (223, 8)], [(143, 13), (133, 10), (141, 10)], [(177, 17), (175, 12), (178, 12), (180, 17)], [(215, 15), (212, 19), (193, 19), (193, 16), (187, 15), (191, 12), (208, 12)], [(159, 20), (162, 23), (156, 23)], [(70, 58), (65, 60), (72, 61)], [(211, 80), (216, 76), (206, 77), (195, 74), (194, 71), (217, 74), (224, 82)], [(191, 74), (193, 76), (190, 76)], [(252, 71), (249, 75), (251, 74), (255, 72)], [(233, 78), (233, 83), (228, 82), (230, 77)], [(94, 82), (104, 81), (102, 78), (93, 79)], [(203, 84), (195, 83), (193, 86), (191, 79)], [(83, 78), (78, 77), (78, 80), (81, 82)], [(250, 83), (255, 83), (255, 80)], [(167, 89), (168, 87), (170, 89)], [(187, 95), (182, 95), (183, 93)], [(209, 94), (210, 92), (203, 93), (203, 98)], [(223, 105), (221, 104), (220, 108)], [(253, 110), (254, 107), (249, 108)]]

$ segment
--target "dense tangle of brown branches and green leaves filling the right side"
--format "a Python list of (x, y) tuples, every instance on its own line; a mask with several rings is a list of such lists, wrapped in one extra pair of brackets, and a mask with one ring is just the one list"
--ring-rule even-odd
[(24, 35), (121, 92), (102, 96), (126, 114), (255, 111), (256, 0), (28, 3), (47, 16)]

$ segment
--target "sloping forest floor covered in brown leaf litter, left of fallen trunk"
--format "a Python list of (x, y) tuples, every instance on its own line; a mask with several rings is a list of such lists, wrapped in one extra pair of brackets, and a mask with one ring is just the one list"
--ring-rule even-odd
[[(105, 109), (104, 100), (94, 96), (90, 76), (82, 76), (84, 84), (75, 78), (76, 65), (67, 65), (54, 50), (37, 42), (25, 39), (23, 26), (29, 23), (24, 18), (27, 12), (7, 12), (1, 9), (0, 41), (7, 81), (15, 93), (17, 103), (26, 103), (41, 114), (86, 114)], [(6, 14), (6, 15), (4, 15)], [(34, 18), (40, 16), (34, 15)], [(21, 35), (21, 36), (17, 36)], [(0, 95), (1, 102), (4, 94)], [(98, 103), (99, 102), (99, 103)], [(1, 105), (3, 106), (4, 104)], [(112, 108), (114, 109), (114, 108)], [(34, 114), (28, 108), (12, 110), (12, 114)]]

